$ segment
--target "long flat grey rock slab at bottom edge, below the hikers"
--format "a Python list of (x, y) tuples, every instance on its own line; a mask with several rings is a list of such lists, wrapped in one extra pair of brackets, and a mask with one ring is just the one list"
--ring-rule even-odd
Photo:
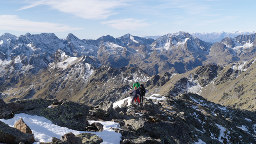
[(162, 144), (160, 139), (152, 139), (151, 137), (126, 135), (122, 136), (120, 144)]

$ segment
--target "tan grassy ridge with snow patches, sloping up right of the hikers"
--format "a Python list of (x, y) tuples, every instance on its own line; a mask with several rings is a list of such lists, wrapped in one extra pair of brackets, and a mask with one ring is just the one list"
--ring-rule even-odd
[(255, 60), (233, 62), (225, 67), (208, 64), (191, 72), (171, 74), (169, 78), (168, 73), (155, 75), (149, 95), (191, 92), (215, 103), (255, 111)]

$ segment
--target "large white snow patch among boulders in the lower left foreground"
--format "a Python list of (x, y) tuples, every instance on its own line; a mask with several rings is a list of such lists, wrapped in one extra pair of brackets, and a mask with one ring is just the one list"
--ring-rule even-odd
[[(0, 119), (0, 121), (13, 127), (15, 122), (21, 118), (30, 127), (30, 129), (34, 133), (35, 140), (38, 142), (52, 142), (52, 137), (61, 139), (61, 135), (64, 135), (68, 132), (72, 132), (75, 135), (85, 133), (83, 131), (75, 131), (65, 127), (60, 127), (58, 125), (53, 124), (50, 120), (46, 119), (45, 117), (39, 117), (37, 115), (31, 116), (24, 113), (16, 114), (12, 119)], [(120, 141), (122, 140), (122, 134), (116, 133), (110, 129), (110, 127), (119, 128), (119, 124), (111, 121), (88, 121), (90, 124), (93, 122), (99, 122), (103, 125), (104, 130), (102, 132), (86, 132), (95, 133), (97, 136), (101, 137), (103, 139), (103, 143), (101, 144), (120, 144)], [(39, 144), (38, 142), (35, 142), (34, 144)]]

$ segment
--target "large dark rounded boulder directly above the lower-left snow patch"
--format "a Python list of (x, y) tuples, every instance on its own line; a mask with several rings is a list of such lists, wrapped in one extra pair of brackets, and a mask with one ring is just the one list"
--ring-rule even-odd
[(67, 100), (54, 108), (36, 108), (25, 111), (24, 113), (43, 116), (61, 127), (67, 127), (77, 131), (85, 131), (89, 107), (84, 104)]

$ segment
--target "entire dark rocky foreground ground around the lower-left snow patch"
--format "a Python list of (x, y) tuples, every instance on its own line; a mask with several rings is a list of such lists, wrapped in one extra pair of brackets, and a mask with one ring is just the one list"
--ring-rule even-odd
[[(157, 99), (158, 98), (158, 99)], [(256, 112), (227, 108), (192, 93), (176, 97), (151, 96), (139, 108), (127, 100), (112, 108), (112, 102), (87, 107), (69, 100), (29, 99), (5, 103), (0, 99), (0, 119), (15, 114), (43, 116), (59, 126), (78, 131), (103, 131), (87, 120), (114, 121), (122, 134), (121, 144), (256, 144)], [(22, 125), (22, 120), (20, 124)], [(24, 124), (25, 125), (25, 124)], [(0, 121), (0, 143), (34, 143), (33, 133), (22, 132)], [(28, 131), (27, 131), (28, 132)], [(72, 140), (71, 140), (72, 139)], [(99, 144), (93, 134), (67, 133), (47, 144)], [(46, 144), (41, 142), (40, 144)]]

